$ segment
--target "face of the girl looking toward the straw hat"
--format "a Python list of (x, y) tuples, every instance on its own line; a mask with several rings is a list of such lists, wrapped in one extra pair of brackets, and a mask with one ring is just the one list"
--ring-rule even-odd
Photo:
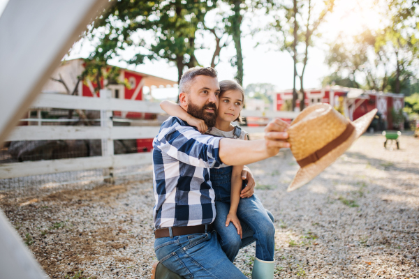
[(228, 90), (219, 97), (218, 119), (235, 121), (243, 108), (243, 94), (238, 90)]

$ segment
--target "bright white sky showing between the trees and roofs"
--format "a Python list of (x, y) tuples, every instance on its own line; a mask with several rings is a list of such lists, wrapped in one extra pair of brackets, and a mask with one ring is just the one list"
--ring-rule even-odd
[[(321, 1), (321, 0), (317, 0)], [(0, 14), (6, 6), (8, 0), (0, 0)], [(369, 27), (372, 29), (379, 27), (380, 17), (378, 15), (378, 8), (374, 6), (374, 0), (336, 0), (335, 10), (328, 17), (328, 22), (321, 26), (323, 33), (323, 41), (332, 41), (333, 38), (344, 32), (346, 36), (352, 36), (362, 31), (362, 28)], [(253, 20), (253, 19), (251, 19)], [(242, 31), (247, 33), (247, 24), (252, 24), (249, 19), (245, 20), (242, 25)], [(212, 38), (207, 36), (208, 45), (213, 45)], [(279, 90), (291, 89), (293, 87), (293, 60), (288, 52), (278, 52), (270, 50), (269, 47), (261, 45), (255, 46), (255, 40), (251, 36), (242, 38), (242, 53), (244, 56), (244, 86), (251, 83), (270, 83), (277, 85)], [(71, 52), (69, 59), (78, 57), (87, 57), (89, 52), (93, 50), (90, 42), (76, 44), (73, 52)], [(325, 75), (329, 74), (328, 66), (325, 65), (325, 51), (327, 46), (318, 44), (309, 51), (309, 61), (307, 63), (306, 73), (304, 75), (304, 87), (314, 88), (321, 86), (321, 80)], [(196, 57), (198, 62), (203, 66), (210, 66), (212, 52), (214, 47), (210, 50), (197, 50)], [(122, 54), (125, 57), (133, 56), (131, 51)], [(233, 79), (235, 75), (235, 68), (233, 68), (229, 61), (235, 55), (234, 44), (231, 43), (228, 47), (221, 50), (221, 62), (216, 66), (219, 72), (220, 80)], [(116, 66), (126, 67), (126, 64), (118, 59), (110, 61)], [(146, 61), (145, 64), (137, 67), (128, 66), (133, 70), (138, 70), (142, 73), (165, 77), (170, 80), (177, 80), (177, 68), (166, 61)], [(297, 84), (299, 82), (297, 81)], [(165, 90), (163, 94), (166, 96), (176, 95), (176, 91)], [(163, 93), (163, 92), (161, 92)], [(153, 94), (154, 95), (154, 94)], [(161, 94), (159, 94), (161, 95)], [(163, 96), (161, 96), (163, 97)]]

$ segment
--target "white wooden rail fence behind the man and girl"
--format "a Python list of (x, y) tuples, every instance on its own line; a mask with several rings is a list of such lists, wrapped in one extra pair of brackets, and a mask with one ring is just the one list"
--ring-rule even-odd
[[(102, 140), (102, 156), (68, 158), (59, 160), (28, 161), (0, 164), (0, 179), (52, 174), (86, 169), (107, 169), (105, 176), (112, 177), (112, 169), (152, 162), (152, 153), (114, 155), (113, 140), (149, 139), (159, 133), (156, 126), (112, 126), (112, 111), (149, 112), (164, 114), (159, 103), (110, 98), (110, 91), (101, 91), (101, 98), (41, 93), (31, 106), (39, 108), (100, 110), (101, 126), (18, 126), (7, 141), (18, 140)], [(293, 119), (294, 112), (260, 112), (243, 110), (243, 116), (281, 117)], [(262, 133), (264, 127), (247, 127), (249, 133)]]

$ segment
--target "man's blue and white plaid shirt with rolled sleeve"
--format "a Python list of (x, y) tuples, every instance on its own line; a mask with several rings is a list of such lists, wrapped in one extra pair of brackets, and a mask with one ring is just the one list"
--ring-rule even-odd
[(201, 135), (170, 117), (153, 140), (154, 227), (211, 224), (216, 216), (211, 167), (226, 167), (219, 157), (221, 137)]

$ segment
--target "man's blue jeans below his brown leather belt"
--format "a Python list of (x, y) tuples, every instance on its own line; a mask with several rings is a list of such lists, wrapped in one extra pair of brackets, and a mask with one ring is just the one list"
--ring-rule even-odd
[(186, 279), (247, 278), (221, 250), (215, 231), (162, 237), (154, 241), (154, 250), (161, 264)]

